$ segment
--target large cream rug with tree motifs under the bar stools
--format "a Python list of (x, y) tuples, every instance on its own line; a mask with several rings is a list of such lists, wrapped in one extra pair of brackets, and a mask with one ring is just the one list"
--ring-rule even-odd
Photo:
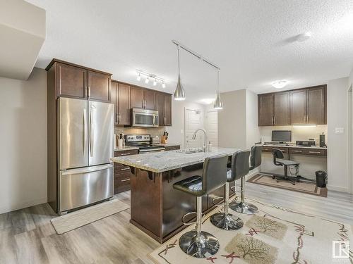
[(352, 227), (342, 222), (325, 220), (313, 215), (272, 206), (252, 199), (247, 201), (258, 206), (255, 215), (241, 215), (230, 210), (244, 221), (237, 231), (224, 231), (214, 227), (205, 216), (202, 230), (210, 232), (220, 241), (220, 250), (215, 256), (193, 258), (179, 248), (179, 237), (193, 227), (188, 227), (177, 236), (150, 253), (155, 263), (353, 263), (353, 252), (348, 259), (333, 259), (333, 241), (352, 239)]

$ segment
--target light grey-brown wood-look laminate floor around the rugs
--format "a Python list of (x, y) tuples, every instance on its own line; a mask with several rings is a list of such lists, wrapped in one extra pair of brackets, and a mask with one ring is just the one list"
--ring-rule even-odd
[[(323, 198), (247, 182), (246, 196), (353, 224), (349, 194)], [(130, 193), (116, 199), (130, 203)], [(152, 263), (146, 255), (159, 245), (128, 222), (129, 209), (61, 235), (54, 216), (47, 203), (0, 215), (0, 263)]]

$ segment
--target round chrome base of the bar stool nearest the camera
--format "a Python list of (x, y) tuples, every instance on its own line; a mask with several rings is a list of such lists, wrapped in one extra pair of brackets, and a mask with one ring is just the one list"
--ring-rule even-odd
[(189, 256), (195, 258), (208, 258), (215, 255), (220, 249), (220, 242), (213, 234), (201, 231), (198, 241), (197, 231), (186, 232), (179, 238), (179, 246)]

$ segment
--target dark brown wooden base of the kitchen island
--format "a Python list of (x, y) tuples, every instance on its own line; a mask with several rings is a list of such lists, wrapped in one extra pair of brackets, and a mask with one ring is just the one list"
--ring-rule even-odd
[[(186, 225), (181, 218), (186, 213), (196, 211), (196, 196), (174, 189), (173, 184), (193, 175), (201, 175), (202, 170), (203, 163), (160, 173), (136, 168), (131, 176), (130, 222), (160, 243), (183, 230)], [(215, 208), (212, 203), (215, 197), (224, 198), (225, 187), (203, 196), (203, 213)], [(189, 215), (185, 220), (192, 222), (195, 215)]]

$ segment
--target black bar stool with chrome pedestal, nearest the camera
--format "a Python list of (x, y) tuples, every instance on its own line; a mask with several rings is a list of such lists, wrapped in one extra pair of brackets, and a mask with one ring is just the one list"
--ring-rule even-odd
[(186, 232), (179, 239), (181, 250), (190, 256), (208, 258), (215, 255), (220, 249), (220, 243), (213, 234), (201, 231), (202, 196), (225, 185), (227, 181), (227, 161), (227, 155), (205, 158), (202, 176), (192, 176), (173, 184), (174, 189), (185, 191), (197, 197), (196, 230)]

